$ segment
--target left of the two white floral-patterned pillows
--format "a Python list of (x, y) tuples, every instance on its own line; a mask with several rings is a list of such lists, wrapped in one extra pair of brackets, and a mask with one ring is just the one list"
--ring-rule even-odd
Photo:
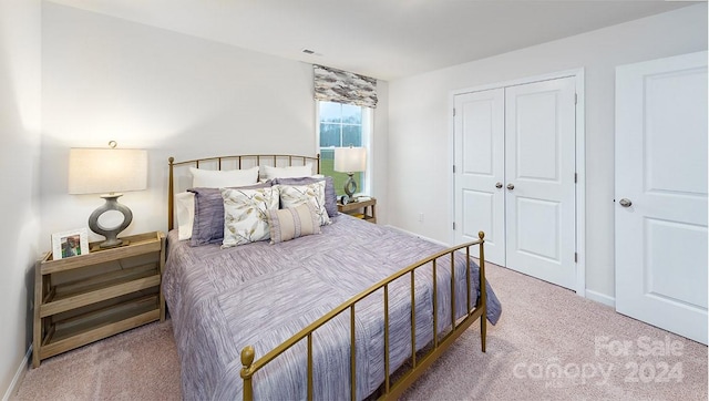
[(270, 238), (266, 213), (278, 209), (278, 187), (220, 191), (224, 198), (222, 248)]

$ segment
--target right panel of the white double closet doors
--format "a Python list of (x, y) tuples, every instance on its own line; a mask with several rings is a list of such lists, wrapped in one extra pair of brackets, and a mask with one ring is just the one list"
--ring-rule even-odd
[(575, 79), (505, 90), (507, 267), (575, 288)]

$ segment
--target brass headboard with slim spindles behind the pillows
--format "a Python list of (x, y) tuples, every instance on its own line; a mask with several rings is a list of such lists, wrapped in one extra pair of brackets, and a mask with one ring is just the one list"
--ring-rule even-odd
[[(301, 156), (301, 155), (234, 155), (234, 156), (216, 156), (195, 158), (186, 162), (175, 162), (174, 157), (168, 157), (169, 163), (169, 182), (167, 189), (167, 230), (174, 228), (174, 205), (175, 205), (175, 168), (176, 167), (197, 167), (215, 171), (228, 171), (236, 168), (249, 168), (254, 166), (305, 166), (308, 163), (314, 164), (315, 174), (320, 174), (320, 155)], [(185, 188), (186, 189), (186, 188)]]

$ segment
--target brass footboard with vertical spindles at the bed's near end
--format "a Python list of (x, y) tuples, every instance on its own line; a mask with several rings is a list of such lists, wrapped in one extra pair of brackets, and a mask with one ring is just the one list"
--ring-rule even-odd
[[(294, 347), (300, 340), (307, 340), (308, 356), (307, 356), (307, 380), (308, 380), (308, 400), (312, 400), (312, 333), (321, 326), (340, 315), (346, 310), (350, 310), (350, 385), (351, 385), (351, 399), (357, 400), (357, 369), (356, 369), (356, 346), (354, 346), (354, 307), (356, 305), (368, 297), (374, 291), (383, 289), (384, 296), (384, 383), (382, 384), (382, 394), (381, 399), (394, 399), (399, 397), (411, 383), (413, 383), (435, 361), (438, 357), (440, 357), (446, 349), (450, 347), (453, 341), (460, 337), (465, 329), (467, 329), (475, 319), (480, 319), (480, 328), (481, 328), (481, 348), (482, 351), (485, 352), (485, 335), (486, 335), (486, 290), (485, 290), (485, 256), (483, 250), (484, 233), (479, 233), (479, 240), (459, 245), (443, 251), (440, 251), (435, 255), (432, 255), (423, 260), (420, 260), (399, 273), (377, 282), (364, 291), (358, 294), (347, 302), (340, 305), (335, 308), (327, 315), (322, 316), (320, 319), (316, 320), (308, 327), (300, 330), (298, 333), (292, 336), (290, 339), (266, 353), (261, 358), (255, 359), (254, 347), (247, 346), (242, 350), (242, 364), (244, 368), (242, 369), (242, 378), (244, 379), (244, 400), (251, 401), (254, 399), (254, 387), (253, 387), (253, 376), (264, 368), (267, 363), (273, 361), (276, 357)], [(473, 307), (471, 300), (471, 261), (470, 261), (470, 247), (479, 245), (480, 246), (480, 297), (477, 298), (475, 306)], [(454, 253), (465, 249), (466, 256), (466, 290), (467, 290), (467, 308), (466, 316), (461, 319), (455, 319), (455, 269), (454, 269)], [(438, 288), (436, 288), (436, 264), (438, 260), (446, 255), (450, 255), (451, 259), (451, 330), (448, 331), (442, 338), (439, 338), (438, 330)], [(415, 301), (414, 301), (414, 271), (428, 264), (432, 264), (433, 268), (433, 342), (431, 345), (432, 349), (428, 351), (427, 354), (422, 356), (420, 359), (417, 357), (417, 347), (415, 347)], [(395, 382), (390, 382), (391, 371), (389, 366), (389, 285), (395, 279), (403, 277), (405, 275), (410, 275), (411, 277), (411, 369), (401, 374), (401, 377), (395, 380)], [(368, 394), (363, 394), (364, 397)]]

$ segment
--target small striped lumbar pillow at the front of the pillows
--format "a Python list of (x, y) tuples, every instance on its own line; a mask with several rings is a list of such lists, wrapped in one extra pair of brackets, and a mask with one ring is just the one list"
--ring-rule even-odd
[(310, 203), (268, 210), (270, 243), (278, 244), (311, 234), (320, 234), (320, 217)]

